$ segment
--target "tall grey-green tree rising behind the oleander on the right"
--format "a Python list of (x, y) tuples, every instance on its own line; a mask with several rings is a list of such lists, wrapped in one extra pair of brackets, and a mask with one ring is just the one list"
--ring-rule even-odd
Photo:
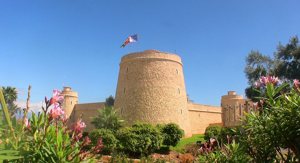
[[(257, 99), (253, 97), (260, 97), (262, 93), (254, 91), (254, 83), (259, 80), (261, 76), (277, 76), (283, 82), (292, 82), (293, 79), (300, 78), (300, 42), (298, 36), (294, 36), (289, 40), (285, 46), (277, 45), (277, 51), (273, 53), (273, 59), (270, 56), (262, 55), (258, 50), (251, 52), (245, 57), (246, 65), (244, 68), (245, 76), (248, 79), (249, 86), (245, 89), (247, 98), (253, 101)], [(265, 88), (257, 88), (264, 92)], [(282, 91), (287, 92), (290, 88), (286, 87)]]

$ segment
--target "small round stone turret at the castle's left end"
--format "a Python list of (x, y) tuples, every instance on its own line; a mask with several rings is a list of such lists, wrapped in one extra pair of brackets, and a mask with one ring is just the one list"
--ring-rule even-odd
[(61, 92), (64, 95), (64, 100), (62, 101), (62, 106), (65, 112), (69, 116), (69, 123), (72, 123), (75, 119), (74, 116), (74, 106), (78, 104), (78, 92), (71, 91), (71, 87), (64, 87)]

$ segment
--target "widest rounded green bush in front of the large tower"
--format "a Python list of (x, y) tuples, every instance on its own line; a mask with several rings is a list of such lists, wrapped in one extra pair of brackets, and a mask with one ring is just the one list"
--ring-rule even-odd
[(121, 144), (132, 153), (151, 153), (163, 142), (161, 132), (150, 123), (134, 122), (122, 131)]

